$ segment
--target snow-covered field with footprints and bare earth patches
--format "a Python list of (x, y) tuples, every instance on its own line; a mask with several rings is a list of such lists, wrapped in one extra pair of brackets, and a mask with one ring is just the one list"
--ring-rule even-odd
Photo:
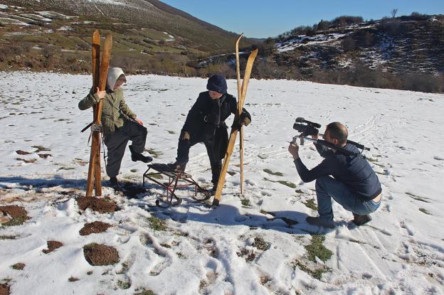
[[(109, 187), (103, 172), (103, 195), (121, 210), (100, 214), (80, 212), (75, 201), (84, 195), (90, 151), (80, 129), (92, 119), (77, 104), (91, 77), (0, 77), (0, 205), (23, 206), (30, 217), (23, 225), (0, 227), (0, 284), (8, 284), (11, 294), (444, 292), (444, 95), (251, 80), (245, 195), (239, 195), (236, 149), (218, 208), (194, 203), (191, 191), (182, 190), (181, 205), (152, 209), (148, 205), (162, 193), (157, 186), (150, 183), (147, 193), (126, 198)], [(128, 77), (126, 100), (147, 126), (146, 147), (159, 154), (154, 161), (174, 161), (185, 116), (205, 86), (199, 78)], [(236, 82), (228, 81), (228, 89), (236, 94)], [(347, 124), (349, 139), (371, 148), (366, 156), (384, 197), (369, 225), (352, 226), (351, 213), (337, 204), (334, 230), (307, 225), (305, 217), (317, 214), (307, 207), (315, 203), (314, 182), (300, 181), (287, 152), (296, 117)], [(300, 154), (309, 168), (321, 161), (310, 143)], [(187, 171), (210, 186), (204, 146), (194, 146), (190, 156)], [(127, 150), (119, 178), (141, 184), (145, 170)], [(154, 227), (152, 217), (164, 220), (166, 229)], [(93, 221), (112, 227), (79, 235)], [(44, 254), (48, 240), (63, 247)], [(331, 257), (322, 247), (317, 253), (327, 257), (313, 257), (309, 246), (315, 241)], [(88, 264), (83, 246), (91, 242), (115, 247), (120, 262)], [(26, 266), (11, 268), (16, 263)]]

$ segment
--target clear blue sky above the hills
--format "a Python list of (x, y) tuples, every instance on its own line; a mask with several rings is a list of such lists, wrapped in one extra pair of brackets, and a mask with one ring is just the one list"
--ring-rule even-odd
[(162, 0), (203, 21), (247, 37), (277, 36), (297, 26), (312, 26), (321, 19), (362, 16), (370, 20), (413, 11), (444, 14), (444, 0)]

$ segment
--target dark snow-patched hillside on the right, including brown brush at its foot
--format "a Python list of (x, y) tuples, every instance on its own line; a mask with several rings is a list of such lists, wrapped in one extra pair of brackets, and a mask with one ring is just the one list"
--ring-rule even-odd
[[(444, 91), (444, 16), (332, 22), (324, 28), (322, 23), (268, 38), (259, 45), (253, 76)], [(233, 63), (233, 58), (219, 55), (208, 60), (224, 64)]]

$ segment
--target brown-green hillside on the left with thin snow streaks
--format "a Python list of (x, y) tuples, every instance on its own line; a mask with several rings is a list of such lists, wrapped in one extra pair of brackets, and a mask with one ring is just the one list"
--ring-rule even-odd
[(154, 0), (2, 1), (0, 69), (88, 73), (95, 28), (112, 32), (111, 63), (129, 73), (196, 75), (189, 62), (233, 50), (237, 36)]

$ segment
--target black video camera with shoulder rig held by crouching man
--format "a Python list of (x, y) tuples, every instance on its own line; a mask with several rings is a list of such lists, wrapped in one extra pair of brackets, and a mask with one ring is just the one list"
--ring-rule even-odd
[(308, 121), (302, 117), (297, 117), (295, 120), (295, 124), (293, 124), (293, 129), (297, 130), (297, 132), (300, 132), (300, 134), (293, 137), (292, 144), (296, 144), (297, 139), (300, 139), (300, 144), (304, 145), (304, 139), (308, 139), (310, 141), (316, 142), (317, 144), (325, 146), (329, 149), (341, 151), (342, 153), (348, 154), (350, 156), (361, 156), (363, 158), (365, 158), (365, 156), (361, 155), (362, 152), (364, 150), (370, 151), (370, 149), (368, 147), (364, 146), (363, 144), (359, 144), (359, 143), (357, 143), (355, 141), (351, 141), (351, 140), (347, 140), (347, 144), (353, 144), (358, 149), (361, 149), (362, 150), (361, 153), (355, 154), (355, 153), (352, 153), (351, 151), (347, 151), (346, 149), (343, 149), (342, 147), (334, 146), (334, 144), (331, 144), (331, 143), (324, 141), (322, 139), (311, 139), (310, 137), (307, 137), (307, 136), (311, 136), (311, 135), (323, 136), (324, 134), (319, 134), (318, 128), (321, 128), (321, 124)]

